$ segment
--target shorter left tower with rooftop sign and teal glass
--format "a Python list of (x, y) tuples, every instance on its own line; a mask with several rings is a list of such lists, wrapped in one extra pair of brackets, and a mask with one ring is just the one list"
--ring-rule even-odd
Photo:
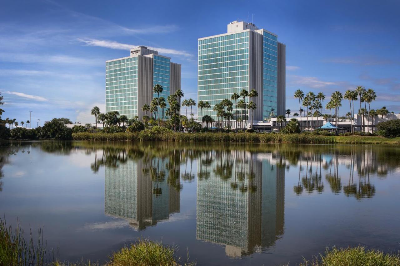
[[(142, 106), (158, 97), (153, 93), (154, 85), (162, 85), (160, 97), (166, 100), (180, 89), (180, 69), (180, 64), (146, 46), (132, 48), (128, 57), (106, 61), (106, 112), (118, 111), (128, 118), (137, 115), (139, 119), (150, 115), (142, 111)], [(158, 113), (164, 117), (162, 109), (153, 115), (158, 118)]]

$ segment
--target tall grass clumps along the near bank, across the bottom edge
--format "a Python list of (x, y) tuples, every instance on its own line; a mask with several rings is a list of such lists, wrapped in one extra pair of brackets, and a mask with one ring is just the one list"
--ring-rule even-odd
[[(56, 258), (54, 249), (48, 250), (43, 241), (43, 231), (39, 228), (38, 236), (24, 237), (21, 222), (17, 221), (17, 227), (7, 226), (4, 219), (0, 218), (0, 265), (47, 265), (47, 266), (194, 266), (196, 261), (190, 261), (187, 252), (186, 261), (176, 256), (178, 246), (166, 246), (162, 242), (139, 238), (130, 245), (124, 246), (116, 252), (112, 252), (108, 262), (85, 261), (66, 262)], [(35, 240), (37, 238), (37, 240)], [(285, 264), (289, 266), (290, 264)], [(299, 266), (398, 266), (400, 265), (400, 252), (384, 253), (380, 250), (367, 249), (364, 246), (347, 248), (326, 248), (324, 254), (314, 256), (311, 260), (303, 257)]]

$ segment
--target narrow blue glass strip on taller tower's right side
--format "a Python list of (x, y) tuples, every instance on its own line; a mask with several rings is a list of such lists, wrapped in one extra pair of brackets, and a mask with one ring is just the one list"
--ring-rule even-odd
[(278, 111), (278, 37), (262, 31), (262, 119)]

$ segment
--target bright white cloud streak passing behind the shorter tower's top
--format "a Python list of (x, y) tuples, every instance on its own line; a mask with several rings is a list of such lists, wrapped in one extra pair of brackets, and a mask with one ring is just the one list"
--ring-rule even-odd
[[(78, 39), (78, 41), (83, 42), (86, 46), (99, 46), (117, 50), (129, 50), (137, 45), (133, 44), (121, 44), (119, 42), (110, 41), (110, 40), (96, 40), (96, 39)], [(150, 49), (156, 50), (160, 52), (160, 54), (172, 54), (177, 56), (184, 56), (187, 58), (192, 57), (192, 54), (189, 54), (185, 51), (168, 49), (168, 48), (157, 48), (157, 47), (149, 47)]]

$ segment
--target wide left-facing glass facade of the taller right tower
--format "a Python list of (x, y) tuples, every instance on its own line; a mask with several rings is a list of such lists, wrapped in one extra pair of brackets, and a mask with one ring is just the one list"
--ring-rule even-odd
[[(210, 103), (208, 115), (215, 120), (214, 105), (223, 99), (230, 99), (235, 92), (248, 90), (248, 35), (248, 32), (240, 32), (198, 41), (198, 101)], [(236, 109), (233, 104), (236, 119), (241, 115), (241, 109)]]

